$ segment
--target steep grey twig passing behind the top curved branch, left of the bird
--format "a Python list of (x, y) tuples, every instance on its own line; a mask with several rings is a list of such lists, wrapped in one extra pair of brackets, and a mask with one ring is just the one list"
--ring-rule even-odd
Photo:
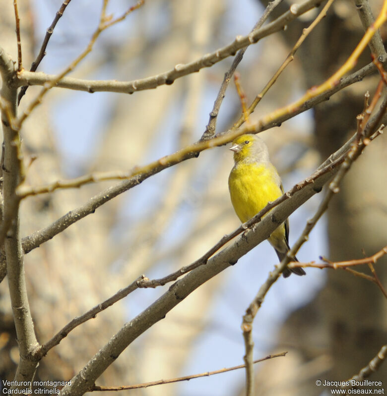
[[(269, 3), (267, 4), (262, 16), (259, 18), (258, 22), (256, 23), (256, 25), (253, 27), (251, 33), (253, 33), (254, 31), (256, 31), (257, 29), (259, 29), (263, 23), (266, 21), (266, 19), (268, 18), (268, 16), (271, 14), (271, 12), (273, 11), (273, 9), (282, 2), (282, 0), (273, 0), (273, 1), (269, 1)], [(230, 83), (230, 79), (232, 77), (232, 75), (234, 74), (236, 68), (238, 67), (239, 63), (241, 62), (243, 56), (245, 55), (245, 52), (247, 50), (248, 47), (244, 47), (241, 50), (239, 50), (238, 54), (236, 55), (236, 57), (234, 58), (230, 68), (227, 70), (227, 72), (224, 74), (224, 78), (223, 78), (223, 82), (222, 85), (220, 86), (218, 95), (215, 99), (214, 102), (214, 106), (210, 112), (210, 117), (208, 120), (208, 124), (205, 127), (205, 131), (203, 133), (203, 136), (201, 137), (202, 140), (207, 140), (211, 137), (213, 137), (215, 135), (215, 128), (216, 128), (216, 121), (218, 118), (218, 113), (219, 113), (219, 109), (220, 106), (222, 105), (223, 102), (223, 98), (226, 94), (226, 90), (228, 87), (228, 84)]]

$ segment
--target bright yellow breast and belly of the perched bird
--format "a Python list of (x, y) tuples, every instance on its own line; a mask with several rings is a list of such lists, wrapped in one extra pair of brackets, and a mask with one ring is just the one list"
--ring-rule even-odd
[(237, 164), (231, 170), (228, 186), (231, 202), (242, 223), (282, 195), (278, 173), (271, 164)]

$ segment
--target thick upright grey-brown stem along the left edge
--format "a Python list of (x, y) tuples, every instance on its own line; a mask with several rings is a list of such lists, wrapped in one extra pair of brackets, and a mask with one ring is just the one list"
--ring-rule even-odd
[[(15, 194), (17, 185), (23, 181), (25, 175), (20, 151), (20, 136), (10, 123), (10, 120), (15, 118), (17, 110), (17, 88), (9, 85), (15, 73), (16, 70), (12, 59), (0, 49), (0, 74), (2, 80), (0, 92), (1, 123), (4, 139), (2, 162), (3, 219), (1, 219), (1, 227), (3, 227), (4, 235), (6, 232), (6, 238), (3, 238), (3, 241), (8, 288), (20, 354), (19, 364), (14, 377), (15, 381), (20, 381), (20, 385), (15, 385), (14, 388), (25, 390), (26, 387), (21, 385), (22, 381), (30, 381), (37, 367), (38, 362), (31, 356), (38, 346), (38, 342), (28, 304), (23, 251), (20, 242), (19, 200)], [(4, 224), (6, 225), (5, 227)], [(0, 245), (2, 246), (2, 241)]]

